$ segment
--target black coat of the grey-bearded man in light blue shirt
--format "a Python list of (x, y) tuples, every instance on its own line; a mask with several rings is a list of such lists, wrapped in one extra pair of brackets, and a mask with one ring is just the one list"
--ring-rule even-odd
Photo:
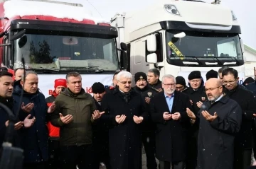
[[(169, 111), (164, 92), (151, 99), (151, 118), (156, 122), (156, 158), (159, 161), (185, 161), (187, 157), (188, 127), (190, 126), (186, 108), (191, 109), (188, 95), (174, 92), (174, 103)], [(180, 120), (164, 120), (164, 112), (181, 114)]]

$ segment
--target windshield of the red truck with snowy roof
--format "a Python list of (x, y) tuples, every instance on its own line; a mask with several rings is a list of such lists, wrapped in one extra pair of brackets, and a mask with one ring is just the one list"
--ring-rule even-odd
[(115, 40), (95, 37), (25, 34), (14, 41), (14, 68), (35, 71), (117, 71)]

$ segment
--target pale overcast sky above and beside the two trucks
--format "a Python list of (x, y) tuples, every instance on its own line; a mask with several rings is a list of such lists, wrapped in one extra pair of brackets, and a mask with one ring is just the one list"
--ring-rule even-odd
[[(109, 21), (117, 12), (122, 13), (137, 10), (144, 6), (154, 4), (156, 1), (157, 0), (89, 0), (90, 3), (88, 3), (87, 0), (72, 0), (73, 3), (79, 2), (90, 9), (93, 9), (92, 6), (90, 6), (90, 4), (92, 4), (97, 8), (97, 11), (99, 11), (103, 18)], [(213, 0), (204, 1), (211, 2)], [(221, 5), (233, 9), (241, 25), (241, 37), (244, 43), (256, 49), (256, 0), (221, 0)]]

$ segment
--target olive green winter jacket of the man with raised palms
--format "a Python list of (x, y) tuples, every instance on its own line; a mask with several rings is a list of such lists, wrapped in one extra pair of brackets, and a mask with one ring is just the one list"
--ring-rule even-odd
[[(55, 111), (51, 115), (50, 122), (55, 127), (60, 127), (60, 146), (82, 146), (92, 144), (92, 113), (96, 110), (92, 95), (85, 90), (75, 95), (65, 88), (55, 98)], [(63, 117), (72, 115), (73, 120), (64, 124), (60, 120), (59, 113)]]

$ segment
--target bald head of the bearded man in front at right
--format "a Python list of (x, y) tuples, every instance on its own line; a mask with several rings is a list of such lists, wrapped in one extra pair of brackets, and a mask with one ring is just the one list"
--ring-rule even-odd
[(222, 81), (218, 78), (210, 78), (206, 81), (206, 95), (208, 100), (214, 101), (223, 93)]

